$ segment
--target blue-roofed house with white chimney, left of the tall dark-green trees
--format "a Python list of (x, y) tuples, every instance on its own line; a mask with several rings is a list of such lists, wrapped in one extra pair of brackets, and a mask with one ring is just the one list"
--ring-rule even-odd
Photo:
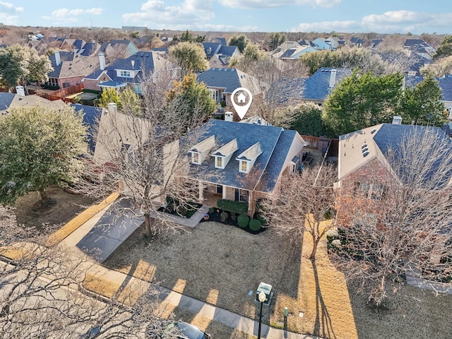
[(338, 83), (351, 74), (350, 69), (322, 67), (304, 81), (303, 88), (299, 88), (298, 98), (322, 105)]

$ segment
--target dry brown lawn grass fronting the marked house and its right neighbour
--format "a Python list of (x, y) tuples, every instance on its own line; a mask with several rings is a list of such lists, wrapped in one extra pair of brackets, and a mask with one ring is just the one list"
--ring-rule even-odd
[[(452, 296), (436, 298), (432, 292), (404, 287), (401, 306), (382, 317), (381, 310), (369, 309), (365, 297), (357, 295), (355, 287), (347, 286), (343, 274), (328, 260), (325, 243), (319, 247), (316, 266), (312, 265), (307, 259), (310, 242), (309, 236), (301, 246), (290, 244), (271, 229), (253, 235), (237, 227), (202, 222), (191, 232), (167, 234), (150, 245), (138, 230), (105, 265), (131, 275), (138, 272), (140, 278), (251, 319), (258, 318), (258, 304), (255, 295), (248, 292), (254, 292), (260, 282), (269, 283), (275, 299), (270, 307), (264, 307), (263, 322), (281, 326), (283, 309), (288, 307), (289, 328), (299, 333), (338, 339), (393, 338), (387, 335), (390, 328), (398, 333), (397, 338), (412, 338), (412, 333), (434, 328), (436, 338), (452, 338), (451, 330), (438, 323), (444, 311), (452, 314)], [(409, 297), (404, 297), (407, 290)], [(419, 310), (420, 304), (429, 305), (422, 316), (413, 311)], [(177, 314), (177, 308), (171, 311)], [(400, 314), (410, 317), (410, 335), (404, 335), (402, 328), (408, 321), (403, 323)], [(376, 319), (384, 319), (386, 324)], [(196, 314), (184, 321), (194, 321), (212, 334), (210, 328), (216, 326)], [(246, 338), (232, 333), (232, 329), (223, 331), (214, 338)]]

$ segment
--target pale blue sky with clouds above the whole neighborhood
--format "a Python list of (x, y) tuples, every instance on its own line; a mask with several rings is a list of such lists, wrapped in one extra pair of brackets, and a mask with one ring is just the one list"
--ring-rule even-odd
[(237, 32), (452, 34), (450, 0), (0, 0), (0, 23)]

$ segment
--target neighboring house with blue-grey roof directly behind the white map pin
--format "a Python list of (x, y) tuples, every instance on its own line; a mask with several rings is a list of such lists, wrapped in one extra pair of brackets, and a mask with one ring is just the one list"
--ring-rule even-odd
[(252, 95), (261, 94), (267, 88), (266, 84), (238, 69), (208, 69), (199, 73), (196, 79), (206, 84), (215, 102), (223, 101), (226, 105), (232, 105), (231, 95), (237, 88), (247, 88)]

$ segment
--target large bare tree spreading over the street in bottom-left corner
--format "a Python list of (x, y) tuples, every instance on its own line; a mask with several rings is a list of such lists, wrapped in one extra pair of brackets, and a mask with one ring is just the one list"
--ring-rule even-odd
[[(3, 207), (0, 218), (6, 226), (0, 240), (1, 338), (78, 338), (90, 330), (98, 338), (143, 338), (151, 323), (166, 322), (158, 316), (153, 287), (121, 286), (100, 297), (86, 285), (92, 263), (46, 246), (44, 237), (30, 238)], [(91, 282), (93, 287), (105, 288)]]

